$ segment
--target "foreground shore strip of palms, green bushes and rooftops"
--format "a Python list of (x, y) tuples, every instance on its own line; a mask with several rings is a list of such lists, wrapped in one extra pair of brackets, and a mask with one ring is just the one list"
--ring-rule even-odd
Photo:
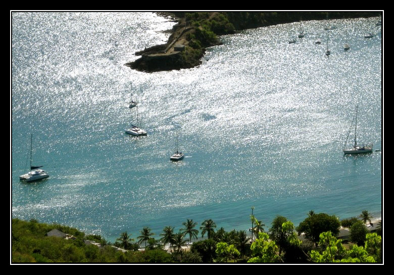
[[(150, 228), (144, 227), (137, 242), (127, 232), (114, 244), (100, 235), (85, 235), (77, 229), (47, 225), (31, 219), (12, 219), (12, 263), (73, 262), (73, 263), (212, 263), (212, 262), (368, 262), (381, 263), (382, 222), (369, 231), (366, 221), (371, 216), (364, 210), (359, 218), (339, 219), (325, 213), (310, 211), (296, 228), (286, 217), (276, 216), (265, 232), (265, 225), (253, 214), (253, 242), (246, 231), (226, 232), (216, 229), (212, 219), (198, 223), (187, 219), (183, 228), (174, 232), (167, 226), (155, 239)], [(340, 236), (340, 226), (350, 228), (349, 236)], [(205, 240), (197, 240), (199, 232)], [(301, 234), (302, 233), (302, 234)], [(349, 238), (348, 238), (349, 237)], [(187, 242), (192, 242), (191, 245)], [(351, 241), (352, 243), (348, 243)], [(140, 245), (144, 244), (144, 249)], [(165, 247), (167, 245), (167, 247)], [(169, 245), (169, 246), (168, 246)]]

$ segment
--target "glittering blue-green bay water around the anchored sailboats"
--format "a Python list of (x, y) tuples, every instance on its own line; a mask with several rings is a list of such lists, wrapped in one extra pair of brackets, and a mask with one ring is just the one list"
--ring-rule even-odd
[[(187, 218), (247, 230), (252, 206), (266, 230), (310, 210), (380, 217), (382, 152), (342, 153), (357, 104), (358, 141), (382, 149), (377, 20), (331, 20), (328, 40), (326, 22), (304, 22), (294, 44), (299, 23), (244, 30), (221, 36), (199, 67), (149, 74), (124, 64), (167, 41), (168, 18), (12, 13), (12, 217), (112, 242), (145, 226), (160, 238)], [(125, 133), (131, 97), (146, 137)], [(27, 184), (31, 133), (33, 164), (50, 178)], [(185, 158), (174, 163), (177, 133)]]

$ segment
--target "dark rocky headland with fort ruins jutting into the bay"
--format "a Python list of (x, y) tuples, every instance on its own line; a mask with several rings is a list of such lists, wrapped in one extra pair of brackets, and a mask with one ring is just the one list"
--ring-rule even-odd
[[(168, 42), (135, 54), (141, 56), (125, 65), (144, 72), (187, 69), (202, 63), (206, 48), (220, 45), (218, 35), (239, 30), (298, 22), (301, 19), (326, 20), (327, 12), (172, 12), (179, 23), (172, 29)], [(330, 19), (376, 17), (381, 12), (329, 12)], [(175, 45), (183, 48), (174, 48)]]

